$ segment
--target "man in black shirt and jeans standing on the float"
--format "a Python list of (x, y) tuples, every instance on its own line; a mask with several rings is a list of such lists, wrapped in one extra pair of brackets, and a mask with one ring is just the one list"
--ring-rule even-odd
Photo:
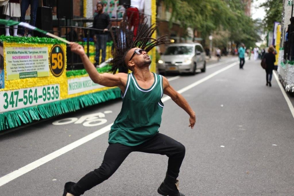
[(97, 30), (94, 35), (94, 41), (96, 42), (96, 57), (95, 57), (95, 65), (99, 64), (100, 58), (100, 49), (102, 50), (102, 58), (101, 62), (105, 61), (106, 57), (106, 41), (108, 39), (108, 29), (110, 27), (110, 19), (107, 13), (103, 12), (103, 5), (101, 3), (97, 3), (97, 15), (94, 17), (93, 28), (101, 29)]

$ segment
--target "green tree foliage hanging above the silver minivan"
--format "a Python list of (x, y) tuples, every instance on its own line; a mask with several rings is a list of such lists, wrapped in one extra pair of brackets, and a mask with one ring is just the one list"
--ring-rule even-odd
[(242, 0), (159, 0), (158, 4), (161, 1), (173, 10), (171, 22), (180, 21), (184, 28), (196, 29), (203, 43), (216, 31), (225, 31), (229, 41), (247, 46), (254, 46), (260, 39), (260, 23), (245, 15)]

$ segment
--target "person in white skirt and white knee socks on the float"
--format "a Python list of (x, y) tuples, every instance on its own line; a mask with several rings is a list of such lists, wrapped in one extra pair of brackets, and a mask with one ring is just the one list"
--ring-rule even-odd
[[(20, 0), (9, 0), (9, 2), (3, 7), (3, 14), (6, 15), (6, 20), (12, 17), (12, 20), (18, 21), (20, 17)], [(13, 36), (17, 36), (17, 26), (13, 26)], [(9, 26), (5, 26), (5, 35), (10, 36)]]

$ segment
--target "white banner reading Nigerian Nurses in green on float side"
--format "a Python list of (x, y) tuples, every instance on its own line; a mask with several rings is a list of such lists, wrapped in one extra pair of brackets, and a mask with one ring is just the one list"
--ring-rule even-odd
[(94, 83), (90, 77), (68, 79), (68, 94), (76, 94), (89, 90), (104, 88), (104, 86)]

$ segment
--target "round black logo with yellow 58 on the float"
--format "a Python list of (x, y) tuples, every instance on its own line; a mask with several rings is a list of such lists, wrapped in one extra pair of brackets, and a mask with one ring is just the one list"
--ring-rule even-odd
[(59, 44), (55, 44), (50, 52), (50, 70), (52, 74), (59, 77), (65, 67), (64, 52)]

